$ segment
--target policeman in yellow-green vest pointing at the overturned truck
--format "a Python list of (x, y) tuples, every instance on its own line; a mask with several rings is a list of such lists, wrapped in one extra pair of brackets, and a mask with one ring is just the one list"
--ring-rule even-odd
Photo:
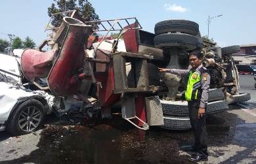
[(181, 75), (186, 79), (184, 98), (188, 101), (190, 124), (194, 131), (194, 146), (190, 149), (196, 154), (191, 155), (190, 161), (207, 161), (207, 131), (205, 127), (205, 108), (207, 106), (210, 77), (202, 65), (203, 54), (193, 51), (189, 54), (189, 70), (158, 68), (160, 72)]

